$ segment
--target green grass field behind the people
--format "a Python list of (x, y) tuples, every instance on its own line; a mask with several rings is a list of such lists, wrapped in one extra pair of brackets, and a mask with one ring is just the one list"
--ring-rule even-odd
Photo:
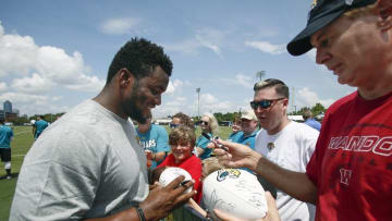
[[(170, 132), (170, 128), (166, 127), (168, 133)], [(30, 126), (14, 126), (14, 138), (11, 143), (12, 148), (12, 173), (15, 176), (14, 179), (7, 180), (1, 179), (0, 180), (0, 221), (8, 220), (10, 214), (10, 207), (12, 197), (14, 194), (16, 181), (17, 181), (17, 174), (21, 170), (23, 158), (28, 151), (28, 149), (32, 147), (34, 143), (34, 137), (32, 134), (32, 127)], [(200, 127), (197, 127), (196, 130), (196, 136), (198, 137), (200, 135)], [(221, 126), (219, 128), (218, 136), (222, 139), (226, 139), (229, 135), (231, 134), (231, 127)], [(0, 177), (5, 176), (4, 167), (1, 163), (0, 164)]]

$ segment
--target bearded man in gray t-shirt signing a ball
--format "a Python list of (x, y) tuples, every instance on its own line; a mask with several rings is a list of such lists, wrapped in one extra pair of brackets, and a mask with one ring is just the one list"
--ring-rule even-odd
[[(128, 118), (161, 103), (172, 62), (134, 38), (115, 54), (100, 94), (47, 128), (26, 155), (10, 220), (158, 220), (189, 199), (193, 182), (148, 186), (146, 157)], [(101, 219), (97, 219), (101, 218)]]

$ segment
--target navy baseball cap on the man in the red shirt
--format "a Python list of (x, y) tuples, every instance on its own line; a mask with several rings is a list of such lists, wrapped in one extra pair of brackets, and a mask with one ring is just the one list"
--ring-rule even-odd
[(308, 52), (313, 48), (310, 45), (310, 36), (313, 34), (331, 24), (344, 12), (366, 7), (376, 1), (377, 0), (314, 0), (305, 29), (289, 42), (287, 51), (292, 56), (301, 56)]

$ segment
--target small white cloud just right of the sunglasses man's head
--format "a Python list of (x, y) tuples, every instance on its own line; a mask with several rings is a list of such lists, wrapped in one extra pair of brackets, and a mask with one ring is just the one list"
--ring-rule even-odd
[(334, 99), (320, 99), (315, 91), (309, 88), (301, 88), (295, 95), (295, 101), (298, 107), (313, 107), (317, 102), (321, 103), (324, 108), (330, 107), (335, 100)]

